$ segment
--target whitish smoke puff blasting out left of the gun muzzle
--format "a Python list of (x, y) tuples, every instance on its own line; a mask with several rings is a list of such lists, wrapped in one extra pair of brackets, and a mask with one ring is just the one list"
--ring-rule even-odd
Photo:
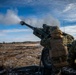
[(12, 10), (7, 10), (6, 14), (0, 14), (0, 24), (18, 24), (20, 21), (17, 13)]

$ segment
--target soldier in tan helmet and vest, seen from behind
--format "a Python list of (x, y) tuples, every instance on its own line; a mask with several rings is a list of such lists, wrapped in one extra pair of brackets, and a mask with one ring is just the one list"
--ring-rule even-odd
[(54, 66), (64, 66), (66, 64), (68, 52), (63, 44), (62, 31), (58, 27), (55, 27), (55, 29), (51, 27), (50, 33), (51, 37), (41, 40), (41, 45), (49, 48), (50, 58)]

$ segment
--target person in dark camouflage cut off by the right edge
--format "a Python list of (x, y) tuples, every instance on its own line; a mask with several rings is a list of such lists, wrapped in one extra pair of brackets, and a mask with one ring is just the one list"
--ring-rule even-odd
[(76, 40), (74, 40), (69, 48), (68, 62), (72, 67), (76, 67)]

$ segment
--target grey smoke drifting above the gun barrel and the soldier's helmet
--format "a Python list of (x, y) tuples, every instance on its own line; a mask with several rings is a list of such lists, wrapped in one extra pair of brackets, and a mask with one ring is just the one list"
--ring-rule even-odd
[(26, 18), (25, 22), (35, 27), (42, 27), (43, 24), (47, 24), (49, 26), (60, 26), (60, 22), (51, 15), (45, 16), (43, 18)]

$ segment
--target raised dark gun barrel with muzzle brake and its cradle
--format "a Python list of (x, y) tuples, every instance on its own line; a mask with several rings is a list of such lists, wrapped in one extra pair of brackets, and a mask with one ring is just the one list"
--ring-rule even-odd
[(21, 25), (26, 25), (27, 27), (34, 30), (33, 34), (36, 35), (37, 37), (39, 37), (40, 39), (48, 38), (50, 36), (50, 34), (47, 34), (43, 28), (33, 27), (33, 26), (25, 23), (24, 21), (21, 21), (20, 24)]

